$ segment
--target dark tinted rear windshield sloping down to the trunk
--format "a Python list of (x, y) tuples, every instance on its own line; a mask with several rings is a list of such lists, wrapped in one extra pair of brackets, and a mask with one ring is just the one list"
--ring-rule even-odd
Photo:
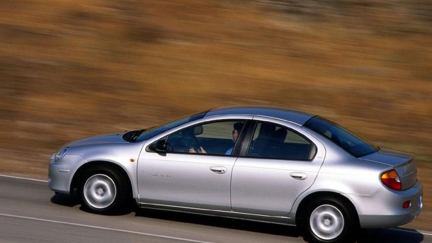
[(327, 137), (339, 147), (355, 157), (362, 157), (378, 151), (378, 148), (363, 138), (355, 135), (346, 128), (339, 126), (319, 116), (310, 118), (304, 125), (315, 132)]

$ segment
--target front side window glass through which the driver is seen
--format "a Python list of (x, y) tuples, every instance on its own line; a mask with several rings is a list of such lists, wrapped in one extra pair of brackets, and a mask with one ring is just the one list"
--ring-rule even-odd
[(231, 155), (245, 120), (225, 120), (188, 127), (166, 139), (167, 152)]

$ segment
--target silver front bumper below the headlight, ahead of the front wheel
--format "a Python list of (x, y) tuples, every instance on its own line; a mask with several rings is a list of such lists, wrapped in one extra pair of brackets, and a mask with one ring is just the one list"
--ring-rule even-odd
[(65, 155), (57, 162), (51, 158), (48, 169), (48, 187), (56, 192), (70, 194), (70, 183), (77, 168), (84, 162), (85, 159), (80, 155)]

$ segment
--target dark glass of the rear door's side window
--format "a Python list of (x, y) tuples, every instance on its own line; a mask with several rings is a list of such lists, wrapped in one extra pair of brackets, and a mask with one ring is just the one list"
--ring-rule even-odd
[(309, 160), (315, 145), (300, 134), (272, 124), (259, 122), (255, 127), (247, 156), (270, 159)]

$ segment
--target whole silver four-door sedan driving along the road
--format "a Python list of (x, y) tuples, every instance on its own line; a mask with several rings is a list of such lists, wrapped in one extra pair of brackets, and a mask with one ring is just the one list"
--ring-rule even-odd
[(95, 212), (132, 201), (297, 225), (318, 242), (411, 222), (423, 193), (412, 155), (320, 116), (268, 107), (216, 108), (68, 143), (50, 159), (49, 187), (77, 190)]

